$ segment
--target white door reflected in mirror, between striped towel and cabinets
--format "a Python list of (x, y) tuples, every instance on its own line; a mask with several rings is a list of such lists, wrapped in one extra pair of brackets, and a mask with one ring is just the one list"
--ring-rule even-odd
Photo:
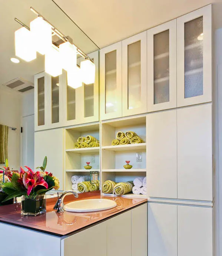
[(21, 165), (34, 169), (34, 115), (22, 118)]

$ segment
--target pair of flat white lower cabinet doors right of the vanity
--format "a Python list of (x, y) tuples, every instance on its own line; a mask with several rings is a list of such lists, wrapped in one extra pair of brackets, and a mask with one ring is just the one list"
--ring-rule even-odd
[(148, 203), (149, 256), (212, 256), (212, 208)]

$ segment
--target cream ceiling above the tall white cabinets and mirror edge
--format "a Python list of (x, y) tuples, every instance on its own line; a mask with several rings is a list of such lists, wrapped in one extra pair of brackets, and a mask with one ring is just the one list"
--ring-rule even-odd
[(214, 3), (213, 22), (222, 27), (222, 0), (54, 1), (100, 48), (210, 3)]

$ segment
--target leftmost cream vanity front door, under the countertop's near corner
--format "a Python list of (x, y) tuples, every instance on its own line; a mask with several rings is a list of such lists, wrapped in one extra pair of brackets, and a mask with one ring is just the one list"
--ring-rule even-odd
[[(113, 243), (115, 248), (115, 243)], [(106, 221), (96, 224), (61, 241), (61, 256), (106, 256), (107, 227)]]

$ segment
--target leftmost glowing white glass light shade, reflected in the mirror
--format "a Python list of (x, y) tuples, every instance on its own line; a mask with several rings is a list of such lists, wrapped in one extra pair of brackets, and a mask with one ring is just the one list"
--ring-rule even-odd
[(31, 33), (25, 27), (21, 27), (15, 32), (15, 49), (16, 56), (27, 62), (36, 59)]

